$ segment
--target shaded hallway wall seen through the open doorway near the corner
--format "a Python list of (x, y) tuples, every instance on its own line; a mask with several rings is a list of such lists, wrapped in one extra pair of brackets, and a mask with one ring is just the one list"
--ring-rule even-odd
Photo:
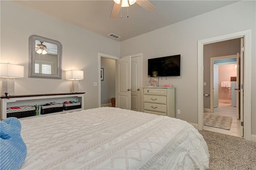
[(101, 104), (112, 103), (116, 97), (116, 60), (101, 57), (101, 68), (104, 68), (104, 80), (101, 81)]

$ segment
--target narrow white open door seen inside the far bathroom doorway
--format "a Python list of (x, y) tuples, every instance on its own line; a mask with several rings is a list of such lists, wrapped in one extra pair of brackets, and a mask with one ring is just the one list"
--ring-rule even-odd
[(213, 107), (219, 107), (219, 65), (213, 65)]

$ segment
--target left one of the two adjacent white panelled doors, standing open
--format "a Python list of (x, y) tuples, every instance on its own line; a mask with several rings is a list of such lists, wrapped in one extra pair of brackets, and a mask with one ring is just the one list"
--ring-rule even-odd
[(116, 107), (131, 110), (131, 57), (117, 59)]

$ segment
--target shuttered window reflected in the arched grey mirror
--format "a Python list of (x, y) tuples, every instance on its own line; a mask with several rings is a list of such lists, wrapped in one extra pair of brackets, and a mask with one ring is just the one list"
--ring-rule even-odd
[(53, 72), (53, 62), (36, 60), (35, 73), (52, 74), (52, 72)]

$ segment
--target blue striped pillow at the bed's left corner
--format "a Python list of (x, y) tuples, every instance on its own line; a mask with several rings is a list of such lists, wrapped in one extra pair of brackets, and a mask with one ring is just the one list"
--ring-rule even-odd
[(20, 135), (21, 124), (15, 117), (0, 121), (0, 169), (18, 170), (27, 156), (27, 147)]

